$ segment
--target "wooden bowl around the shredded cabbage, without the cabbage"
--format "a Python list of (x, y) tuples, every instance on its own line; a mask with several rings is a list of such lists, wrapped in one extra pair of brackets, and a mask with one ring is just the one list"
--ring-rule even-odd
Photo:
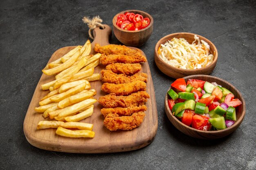
[(209, 75), (213, 71), (213, 69), (215, 68), (215, 66), (217, 64), (218, 51), (217, 51), (215, 45), (210, 40), (202, 37), (201, 35), (197, 35), (197, 36), (199, 37), (200, 40), (204, 40), (205, 42), (207, 42), (209, 44), (210, 54), (214, 55), (213, 62), (211, 64), (209, 64), (208, 66), (206, 66), (205, 68), (199, 68), (199, 69), (194, 69), (194, 70), (177, 68), (177, 67), (171, 66), (170, 64), (167, 64), (166, 62), (164, 62), (164, 60), (162, 60), (159, 57), (159, 54), (157, 53), (159, 46), (161, 44), (166, 43), (168, 40), (171, 40), (173, 38), (184, 38), (191, 44), (194, 41), (195, 35), (197, 35), (197, 34), (173, 33), (170, 35), (166, 35), (165, 37), (163, 37), (162, 39), (160, 39), (157, 42), (157, 44), (155, 45), (155, 64), (157, 64), (157, 67), (164, 74), (177, 79), (177, 78), (182, 78), (182, 77), (188, 76), (188, 75), (196, 75), (196, 74)]

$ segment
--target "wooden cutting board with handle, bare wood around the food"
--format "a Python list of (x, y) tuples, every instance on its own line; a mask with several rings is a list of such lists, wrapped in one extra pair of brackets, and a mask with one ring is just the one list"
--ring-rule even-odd
[[(109, 36), (111, 34), (111, 28), (108, 25), (104, 25), (105, 29), (94, 29), (94, 42), (92, 42), (92, 52), (94, 52), (94, 44), (100, 45), (109, 44)], [(53, 53), (49, 62), (52, 62), (59, 57), (62, 57), (68, 51), (74, 49), (75, 46), (67, 46), (58, 49)], [(132, 49), (135, 49), (131, 47)], [(142, 54), (143, 51), (141, 51)], [(145, 55), (145, 54), (144, 54)], [(94, 73), (100, 73), (105, 66), (100, 64), (95, 68)], [(74, 153), (103, 153), (103, 152), (123, 152), (128, 150), (136, 150), (150, 144), (157, 132), (157, 106), (155, 101), (155, 91), (153, 86), (152, 77), (148, 63), (142, 63), (141, 72), (148, 74), (147, 93), (150, 95), (150, 99), (146, 102), (148, 110), (146, 110), (146, 116), (141, 126), (133, 130), (118, 130), (109, 131), (103, 124), (104, 117), (101, 115), (101, 105), (97, 102), (94, 104), (94, 113), (91, 117), (82, 120), (81, 122), (93, 124), (93, 131), (95, 132), (94, 138), (69, 138), (56, 135), (56, 129), (40, 129), (37, 130), (36, 126), (41, 120), (45, 119), (42, 113), (36, 113), (35, 107), (38, 107), (38, 102), (49, 91), (43, 91), (41, 85), (46, 82), (54, 80), (54, 76), (43, 74), (36, 86), (36, 90), (31, 99), (29, 108), (23, 124), (23, 130), (27, 141), (38, 148), (45, 150), (53, 150), (60, 152), (74, 152)], [(100, 96), (106, 95), (101, 91), (101, 81), (90, 82), (92, 88), (96, 89), (96, 99)]]

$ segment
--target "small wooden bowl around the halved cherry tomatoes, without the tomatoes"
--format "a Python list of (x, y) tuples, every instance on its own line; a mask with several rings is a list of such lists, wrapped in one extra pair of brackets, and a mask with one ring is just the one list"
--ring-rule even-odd
[[(137, 30), (137, 31), (128, 31), (128, 30), (124, 30), (121, 29), (117, 26), (117, 16), (119, 14), (124, 14), (126, 12), (133, 12), (135, 14), (141, 14), (144, 18), (148, 17), (150, 19), (150, 24), (141, 30)], [(118, 13), (117, 15), (115, 15), (115, 17), (112, 20), (113, 22), (113, 31), (114, 34), (116, 36), (116, 38), (123, 43), (126, 46), (141, 46), (143, 45), (148, 38), (150, 37), (152, 31), (153, 31), (153, 18), (151, 17), (151, 15), (149, 15), (148, 13), (144, 12), (144, 11), (139, 11), (139, 10), (127, 10), (127, 11), (122, 11), (120, 13)]]

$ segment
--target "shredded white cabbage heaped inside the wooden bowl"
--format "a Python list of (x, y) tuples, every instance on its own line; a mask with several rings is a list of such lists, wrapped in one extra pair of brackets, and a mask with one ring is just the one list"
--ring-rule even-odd
[(208, 66), (213, 62), (213, 55), (209, 54), (209, 44), (203, 40), (200, 43), (196, 35), (194, 39), (192, 44), (184, 38), (173, 38), (161, 44), (158, 50), (160, 58), (167, 64), (182, 69), (198, 69)]

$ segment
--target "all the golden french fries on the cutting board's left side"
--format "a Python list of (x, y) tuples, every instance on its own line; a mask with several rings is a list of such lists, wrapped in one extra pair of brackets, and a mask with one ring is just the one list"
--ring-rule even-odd
[[(50, 92), (39, 102), (36, 112), (54, 121), (40, 121), (37, 129), (57, 128), (56, 134), (65, 137), (94, 137), (93, 124), (78, 122), (93, 113), (93, 98), (96, 90), (90, 82), (99, 80), (94, 68), (99, 65), (100, 53), (90, 55), (91, 43), (76, 46), (63, 57), (47, 64), (42, 70), (46, 75), (55, 75), (55, 80), (43, 84), (43, 90)], [(79, 130), (69, 130), (77, 128)]]

